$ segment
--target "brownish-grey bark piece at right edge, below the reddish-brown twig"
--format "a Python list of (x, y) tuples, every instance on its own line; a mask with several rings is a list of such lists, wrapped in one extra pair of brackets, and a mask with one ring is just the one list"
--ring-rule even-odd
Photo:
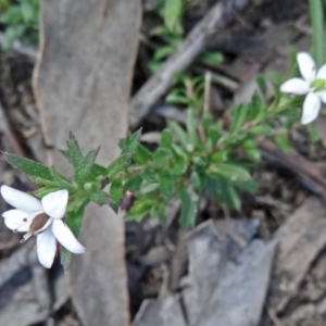
[(311, 264), (325, 248), (325, 202), (311, 197), (276, 231), (278, 252), (267, 305), (276, 313), (281, 313), (297, 294)]

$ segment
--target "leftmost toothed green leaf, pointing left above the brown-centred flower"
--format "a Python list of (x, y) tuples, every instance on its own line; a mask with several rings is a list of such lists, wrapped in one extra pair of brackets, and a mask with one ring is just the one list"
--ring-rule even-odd
[(41, 165), (35, 161), (24, 159), (15, 154), (10, 154), (10, 153), (3, 153), (3, 154), (5, 161), (9, 164), (14, 166), (18, 171), (23, 172), (30, 178), (34, 177), (34, 179), (55, 183), (51, 168)]

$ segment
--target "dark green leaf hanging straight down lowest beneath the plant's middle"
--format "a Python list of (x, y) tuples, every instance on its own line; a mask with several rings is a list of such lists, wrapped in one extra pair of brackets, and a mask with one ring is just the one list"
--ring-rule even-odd
[(196, 223), (196, 215), (198, 210), (198, 196), (191, 187), (180, 190), (181, 212), (180, 225), (184, 228), (189, 228)]

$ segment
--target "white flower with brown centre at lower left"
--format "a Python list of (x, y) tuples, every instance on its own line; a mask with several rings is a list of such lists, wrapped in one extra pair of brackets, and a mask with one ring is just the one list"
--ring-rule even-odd
[(85, 252), (85, 248), (62, 221), (68, 200), (67, 190), (48, 193), (38, 200), (23, 191), (2, 186), (1, 195), (15, 208), (2, 214), (4, 224), (13, 231), (26, 233), (22, 243), (37, 235), (37, 255), (45, 267), (49, 268), (53, 263), (57, 240), (73, 253)]

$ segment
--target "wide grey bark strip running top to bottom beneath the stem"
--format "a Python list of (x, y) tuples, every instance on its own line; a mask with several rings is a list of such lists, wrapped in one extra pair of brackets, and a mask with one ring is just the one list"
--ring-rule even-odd
[[(68, 131), (98, 162), (118, 155), (126, 135), (130, 80), (141, 14), (137, 0), (43, 0), (40, 60), (34, 74), (45, 138), (64, 149)], [(45, 127), (46, 126), (46, 127)], [(53, 163), (64, 173), (55, 151)], [(84, 325), (129, 325), (123, 220), (89, 205), (80, 230), (87, 248), (73, 258), (73, 301)]]

